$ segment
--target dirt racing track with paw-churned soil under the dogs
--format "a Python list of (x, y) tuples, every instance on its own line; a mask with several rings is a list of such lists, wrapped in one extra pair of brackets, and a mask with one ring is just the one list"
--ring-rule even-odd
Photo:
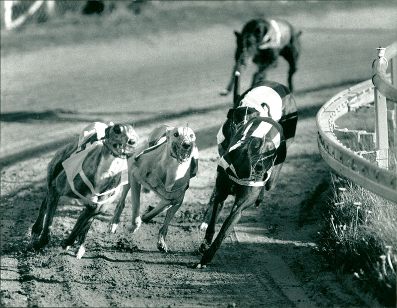
[[(319, 36), (328, 44), (321, 45)], [(215, 178), (215, 135), (231, 105), (230, 97), (217, 93), (232, 67), (232, 31), (218, 26), (149, 43), (115, 41), (2, 58), (1, 305), (368, 306), (362, 294), (324, 268), (312, 249), (331, 171), (318, 153), (315, 115), (349, 81), (370, 78), (374, 48), (393, 39), (392, 30), (304, 31), (295, 78), (298, 129), (280, 182), (259, 208), (243, 212), (232, 236), (202, 270), (192, 265), (200, 258), (200, 218)], [(336, 51), (342, 45), (341, 55)], [(272, 79), (285, 82), (286, 69), (280, 60)], [(242, 88), (250, 82), (245, 76)], [(51, 243), (38, 253), (26, 250), (47, 163), (93, 120), (134, 122), (141, 139), (161, 123), (189, 123), (195, 130), (199, 173), (169, 228), (170, 253), (161, 254), (155, 245), (163, 216), (131, 235), (127, 206), (118, 233), (106, 233), (112, 205), (93, 223), (84, 257), (75, 259), (59, 247), (81, 210), (70, 200), (58, 207)], [(222, 217), (232, 201), (227, 200)], [(142, 208), (152, 202), (154, 195), (144, 195)]]

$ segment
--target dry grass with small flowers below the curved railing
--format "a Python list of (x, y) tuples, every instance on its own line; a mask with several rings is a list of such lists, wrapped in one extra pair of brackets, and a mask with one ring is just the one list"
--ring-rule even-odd
[(320, 234), (331, 262), (396, 307), (397, 204), (333, 178), (333, 200)]

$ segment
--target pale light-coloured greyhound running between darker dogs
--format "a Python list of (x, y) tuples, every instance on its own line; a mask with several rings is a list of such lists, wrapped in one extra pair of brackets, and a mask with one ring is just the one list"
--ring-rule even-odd
[[(196, 176), (198, 168), (198, 150), (196, 136), (189, 127), (170, 127), (162, 125), (155, 128), (148, 143), (128, 159), (129, 183), (123, 188), (109, 232), (114, 233), (125, 207), (125, 199), (131, 187), (132, 196), (132, 232), (136, 232), (141, 222), (149, 222), (153, 217), (167, 211), (163, 226), (158, 233), (157, 248), (167, 252), (165, 238), (172, 217), (182, 205), (189, 181)], [(160, 203), (149, 206), (140, 217), (140, 190), (153, 191), (160, 197)]]

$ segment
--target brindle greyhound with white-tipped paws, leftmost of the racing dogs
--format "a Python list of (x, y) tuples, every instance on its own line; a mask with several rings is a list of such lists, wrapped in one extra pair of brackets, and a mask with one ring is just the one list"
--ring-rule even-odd
[(137, 146), (138, 136), (128, 124), (110, 126), (95, 122), (79, 138), (60, 149), (47, 170), (47, 192), (32, 227), (31, 246), (38, 250), (49, 243), (55, 210), (61, 196), (80, 199), (85, 209), (62, 241), (68, 249), (78, 240), (76, 257), (84, 255), (84, 240), (94, 218), (117, 197), (127, 175), (127, 157)]

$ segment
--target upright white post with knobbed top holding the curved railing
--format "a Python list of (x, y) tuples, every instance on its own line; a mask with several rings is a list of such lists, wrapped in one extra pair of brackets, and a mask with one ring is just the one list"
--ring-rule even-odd
[[(388, 61), (384, 58), (386, 48), (379, 47), (378, 59), (374, 61), (374, 64), (378, 61), (379, 65), (388, 66)], [(386, 71), (386, 69), (385, 69)], [(382, 168), (388, 169), (389, 161), (389, 137), (388, 137), (388, 118), (387, 118), (387, 106), (386, 96), (379, 92), (376, 87), (375, 93), (375, 133), (376, 133), (376, 161)]]

